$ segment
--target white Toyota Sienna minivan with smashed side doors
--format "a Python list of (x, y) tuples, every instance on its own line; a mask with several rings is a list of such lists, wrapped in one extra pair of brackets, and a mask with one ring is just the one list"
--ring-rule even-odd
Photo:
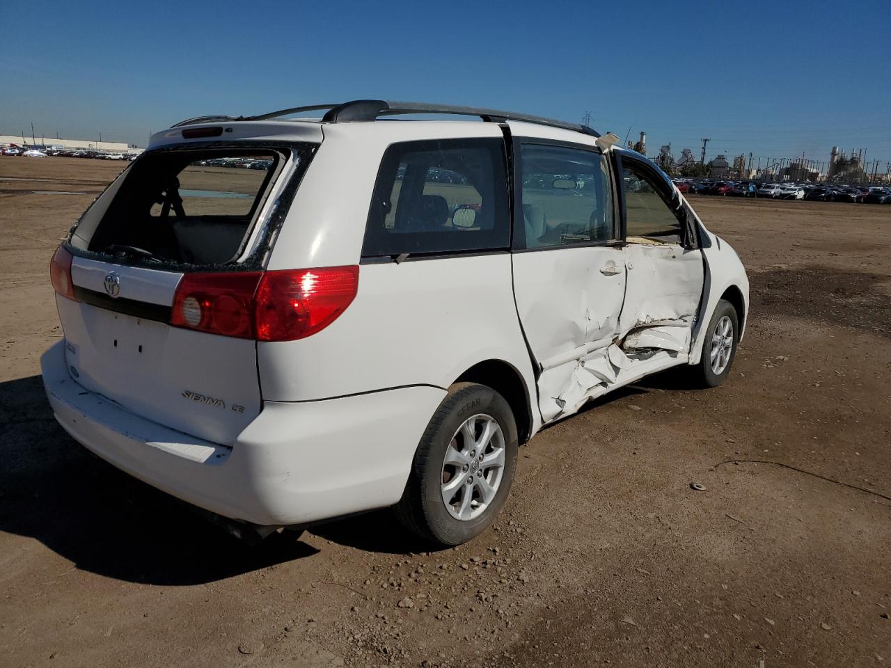
[(468, 541), (545, 425), (730, 371), (740, 259), (616, 140), (380, 100), (159, 132), (53, 257), (55, 417), (235, 534), (395, 506)]

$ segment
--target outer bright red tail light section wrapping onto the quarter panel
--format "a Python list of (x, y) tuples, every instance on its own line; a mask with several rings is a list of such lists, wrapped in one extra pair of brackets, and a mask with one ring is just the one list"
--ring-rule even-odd
[(307, 338), (337, 320), (356, 297), (359, 267), (266, 272), (257, 288), (257, 340)]

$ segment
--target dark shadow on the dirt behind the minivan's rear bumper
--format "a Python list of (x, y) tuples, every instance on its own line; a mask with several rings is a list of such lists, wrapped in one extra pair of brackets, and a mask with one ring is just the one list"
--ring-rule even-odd
[(0, 382), (0, 531), (128, 582), (214, 582), (318, 550), (295, 534), (249, 546), (182, 501), (94, 457), (53, 419), (39, 376)]

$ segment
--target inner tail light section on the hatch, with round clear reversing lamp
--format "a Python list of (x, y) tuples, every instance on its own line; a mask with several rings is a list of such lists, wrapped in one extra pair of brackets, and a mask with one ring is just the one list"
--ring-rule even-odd
[(224, 337), (254, 338), (254, 293), (262, 272), (187, 273), (170, 324)]

